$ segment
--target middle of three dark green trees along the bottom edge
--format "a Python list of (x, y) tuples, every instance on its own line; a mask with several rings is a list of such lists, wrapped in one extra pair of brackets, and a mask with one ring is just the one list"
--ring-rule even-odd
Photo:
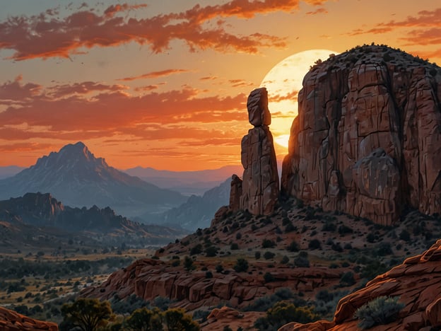
[(147, 308), (136, 309), (124, 322), (124, 330), (131, 331), (162, 331), (163, 323), (160, 310)]

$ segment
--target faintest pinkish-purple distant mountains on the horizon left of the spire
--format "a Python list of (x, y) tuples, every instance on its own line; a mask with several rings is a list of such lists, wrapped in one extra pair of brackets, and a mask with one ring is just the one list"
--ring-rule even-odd
[(209, 170), (170, 171), (136, 167), (124, 170), (124, 172), (181, 194), (202, 195), (207, 190), (220, 185), (225, 178), (231, 177), (234, 173), (242, 176), (243, 168), (242, 165), (226, 165)]

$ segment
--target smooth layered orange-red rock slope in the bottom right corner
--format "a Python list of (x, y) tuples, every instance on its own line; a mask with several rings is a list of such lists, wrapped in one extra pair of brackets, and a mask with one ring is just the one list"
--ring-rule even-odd
[[(402, 265), (369, 281), (365, 288), (342, 298), (332, 322), (290, 323), (281, 330), (358, 330), (360, 321), (353, 318), (355, 310), (379, 296), (399, 296), (399, 301), (406, 306), (396, 321), (372, 330), (438, 330), (441, 327), (441, 240), (423, 254), (410, 257)], [(427, 329), (423, 329), (425, 327)]]

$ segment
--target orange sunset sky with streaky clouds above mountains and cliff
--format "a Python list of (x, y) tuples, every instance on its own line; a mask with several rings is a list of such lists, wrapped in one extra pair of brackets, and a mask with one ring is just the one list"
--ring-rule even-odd
[[(240, 164), (247, 96), (271, 69), (372, 42), (441, 64), (441, 2), (0, 0), (0, 166), (77, 141), (120, 169)], [(270, 107), (274, 137), (298, 89), (269, 91), (292, 101)]]

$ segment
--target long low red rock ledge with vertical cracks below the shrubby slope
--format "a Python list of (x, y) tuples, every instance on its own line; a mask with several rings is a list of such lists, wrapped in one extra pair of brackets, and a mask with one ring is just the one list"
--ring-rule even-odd
[[(214, 265), (206, 267), (214, 269)], [(114, 294), (122, 299), (136, 294), (147, 301), (161, 296), (175, 301), (173, 306), (187, 310), (225, 302), (231, 307), (245, 308), (278, 289), (289, 287), (293, 291), (312, 292), (332, 286), (347, 271), (326, 267), (269, 267), (265, 262), (249, 269), (249, 272), (212, 272), (211, 277), (206, 277), (204, 271), (188, 272), (160, 260), (143, 259), (114, 272), (102, 285), (84, 289), (81, 296), (108, 300)], [(271, 272), (274, 281), (265, 281), (262, 269)]]

